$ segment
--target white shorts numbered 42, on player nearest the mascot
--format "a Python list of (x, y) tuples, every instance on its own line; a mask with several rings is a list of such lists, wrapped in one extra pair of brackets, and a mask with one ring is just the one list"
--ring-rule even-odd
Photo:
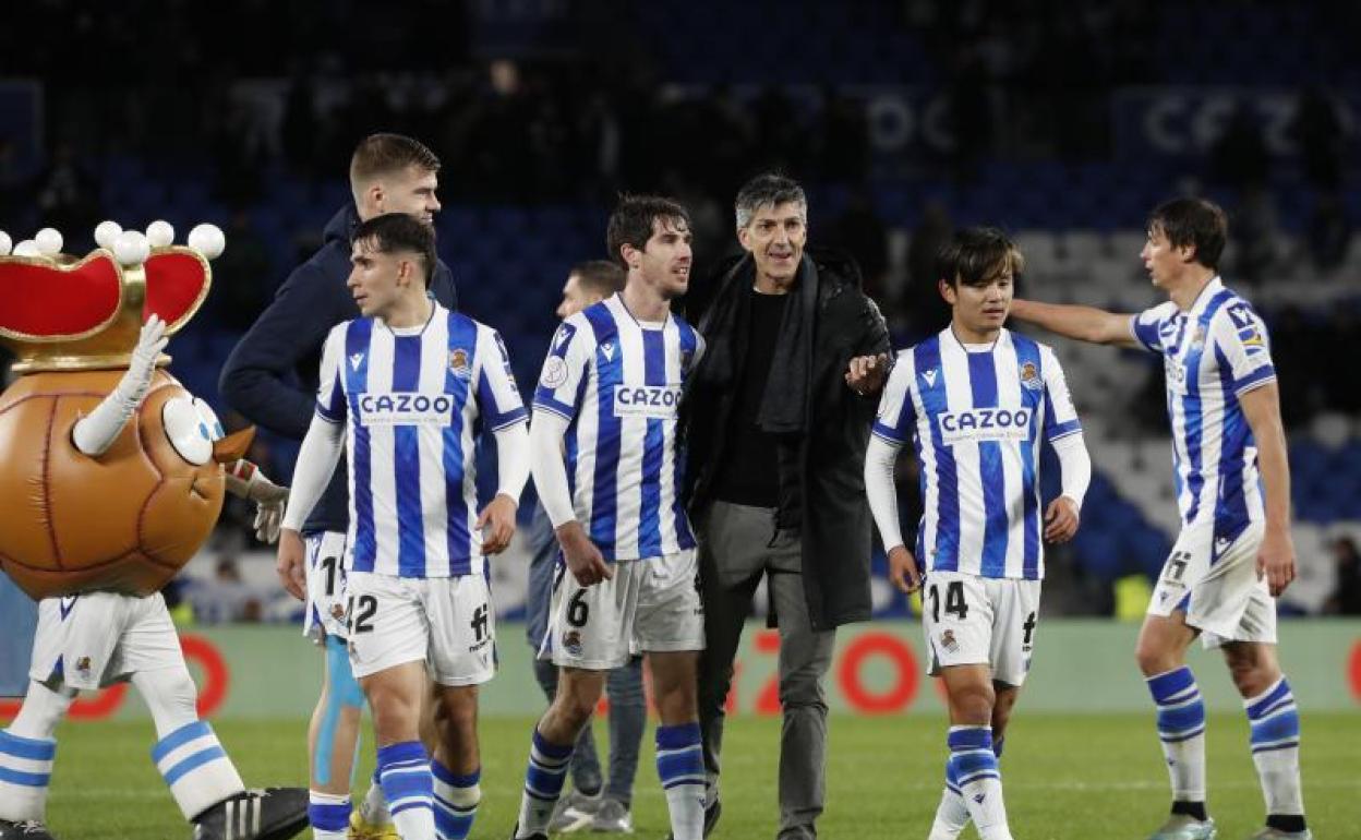
[(350, 664), (355, 678), (425, 662), (440, 685), (479, 685), (497, 670), (495, 610), (480, 575), (396, 577), (351, 572)]

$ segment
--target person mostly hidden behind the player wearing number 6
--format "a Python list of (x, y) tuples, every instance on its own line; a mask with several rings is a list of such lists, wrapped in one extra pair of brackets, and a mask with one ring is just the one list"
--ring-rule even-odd
[[(573, 265), (562, 286), (558, 317), (572, 317), (587, 306), (623, 291), (626, 278), (623, 268), (608, 260), (587, 260)], [(558, 540), (542, 502), (535, 505), (529, 550), (525, 629), (529, 644), (538, 651), (548, 625), (553, 580), (558, 566)], [(536, 658), (534, 677), (551, 702), (558, 693), (558, 667)], [(610, 777), (602, 779), (595, 735), (587, 724), (572, 754), (574, 790), (558, 799), (548, 822), (550, 833), (569, 833), (584, 828), (604, 833), (633, 832), (633, 779), (638, 769), (638, 743), (648, 719), (642, 692), (642, 658), (630, 656), (627, 664), (610, 671), (606, 677), (606, 693), (610, 697)]]

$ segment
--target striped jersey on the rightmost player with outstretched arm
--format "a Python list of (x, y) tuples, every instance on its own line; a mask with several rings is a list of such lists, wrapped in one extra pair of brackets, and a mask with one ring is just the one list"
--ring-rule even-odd
[(1166, 301), (1134, 316), (1130, 332), (1162, 355), (1183, 524), (1213, 520), (1232, 536), (1262, 521), (1258, 448), (1239, 404), (1275, 380), (1262, 319), (1214, 278), (1190, 312)]

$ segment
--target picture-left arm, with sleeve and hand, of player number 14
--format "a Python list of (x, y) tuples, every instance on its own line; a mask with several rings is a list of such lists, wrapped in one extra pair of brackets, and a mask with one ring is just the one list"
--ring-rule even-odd
[(904, 594), (921, 585), (916, 558), (902, 542), (898, 524), (898, 487), (893, 481), (898, 449), (911, 440), (916, 422), (912, 402), (912, 354), (905, 353), (893, 368), (879, 400), (879, 415), (871, 426), (870, 445), (864, 455), (864, 491), (870, 513), (883, 539), (889, 557), (889, 581)]

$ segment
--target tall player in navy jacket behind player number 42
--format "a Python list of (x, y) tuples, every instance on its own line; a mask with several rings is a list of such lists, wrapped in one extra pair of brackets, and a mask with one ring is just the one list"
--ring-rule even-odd
[[(403, 135), (365, 138), (350, 158), (346, 203), (327, 223), (324, 244), (279, 287), (269, 306), (222, 368), (222, 398), (255, 423), (302, 440), (316, 406), (317, 359), (332, 327), (358, 313), (346, 286), (350, 233), (361, 221), (406, 212), (434, 223), (440, 211), (440, 159)], [(429, 293), (457, 310), (453, 276), (438, 263)], [(297, 383), (297, 384), (295, 384)], [(362, 806), (351, 813), (350, 786), (363, 692), (346, 653), (344, 557), (350, 516), (344, 470), (338, 470), (304, 527), (308, 546), (308, 604), (304, 634), (324, 649), (324, 681), (308, 728), (312, 828), (317, 840), (391, 836), (382, 788), (374, 779)]]

